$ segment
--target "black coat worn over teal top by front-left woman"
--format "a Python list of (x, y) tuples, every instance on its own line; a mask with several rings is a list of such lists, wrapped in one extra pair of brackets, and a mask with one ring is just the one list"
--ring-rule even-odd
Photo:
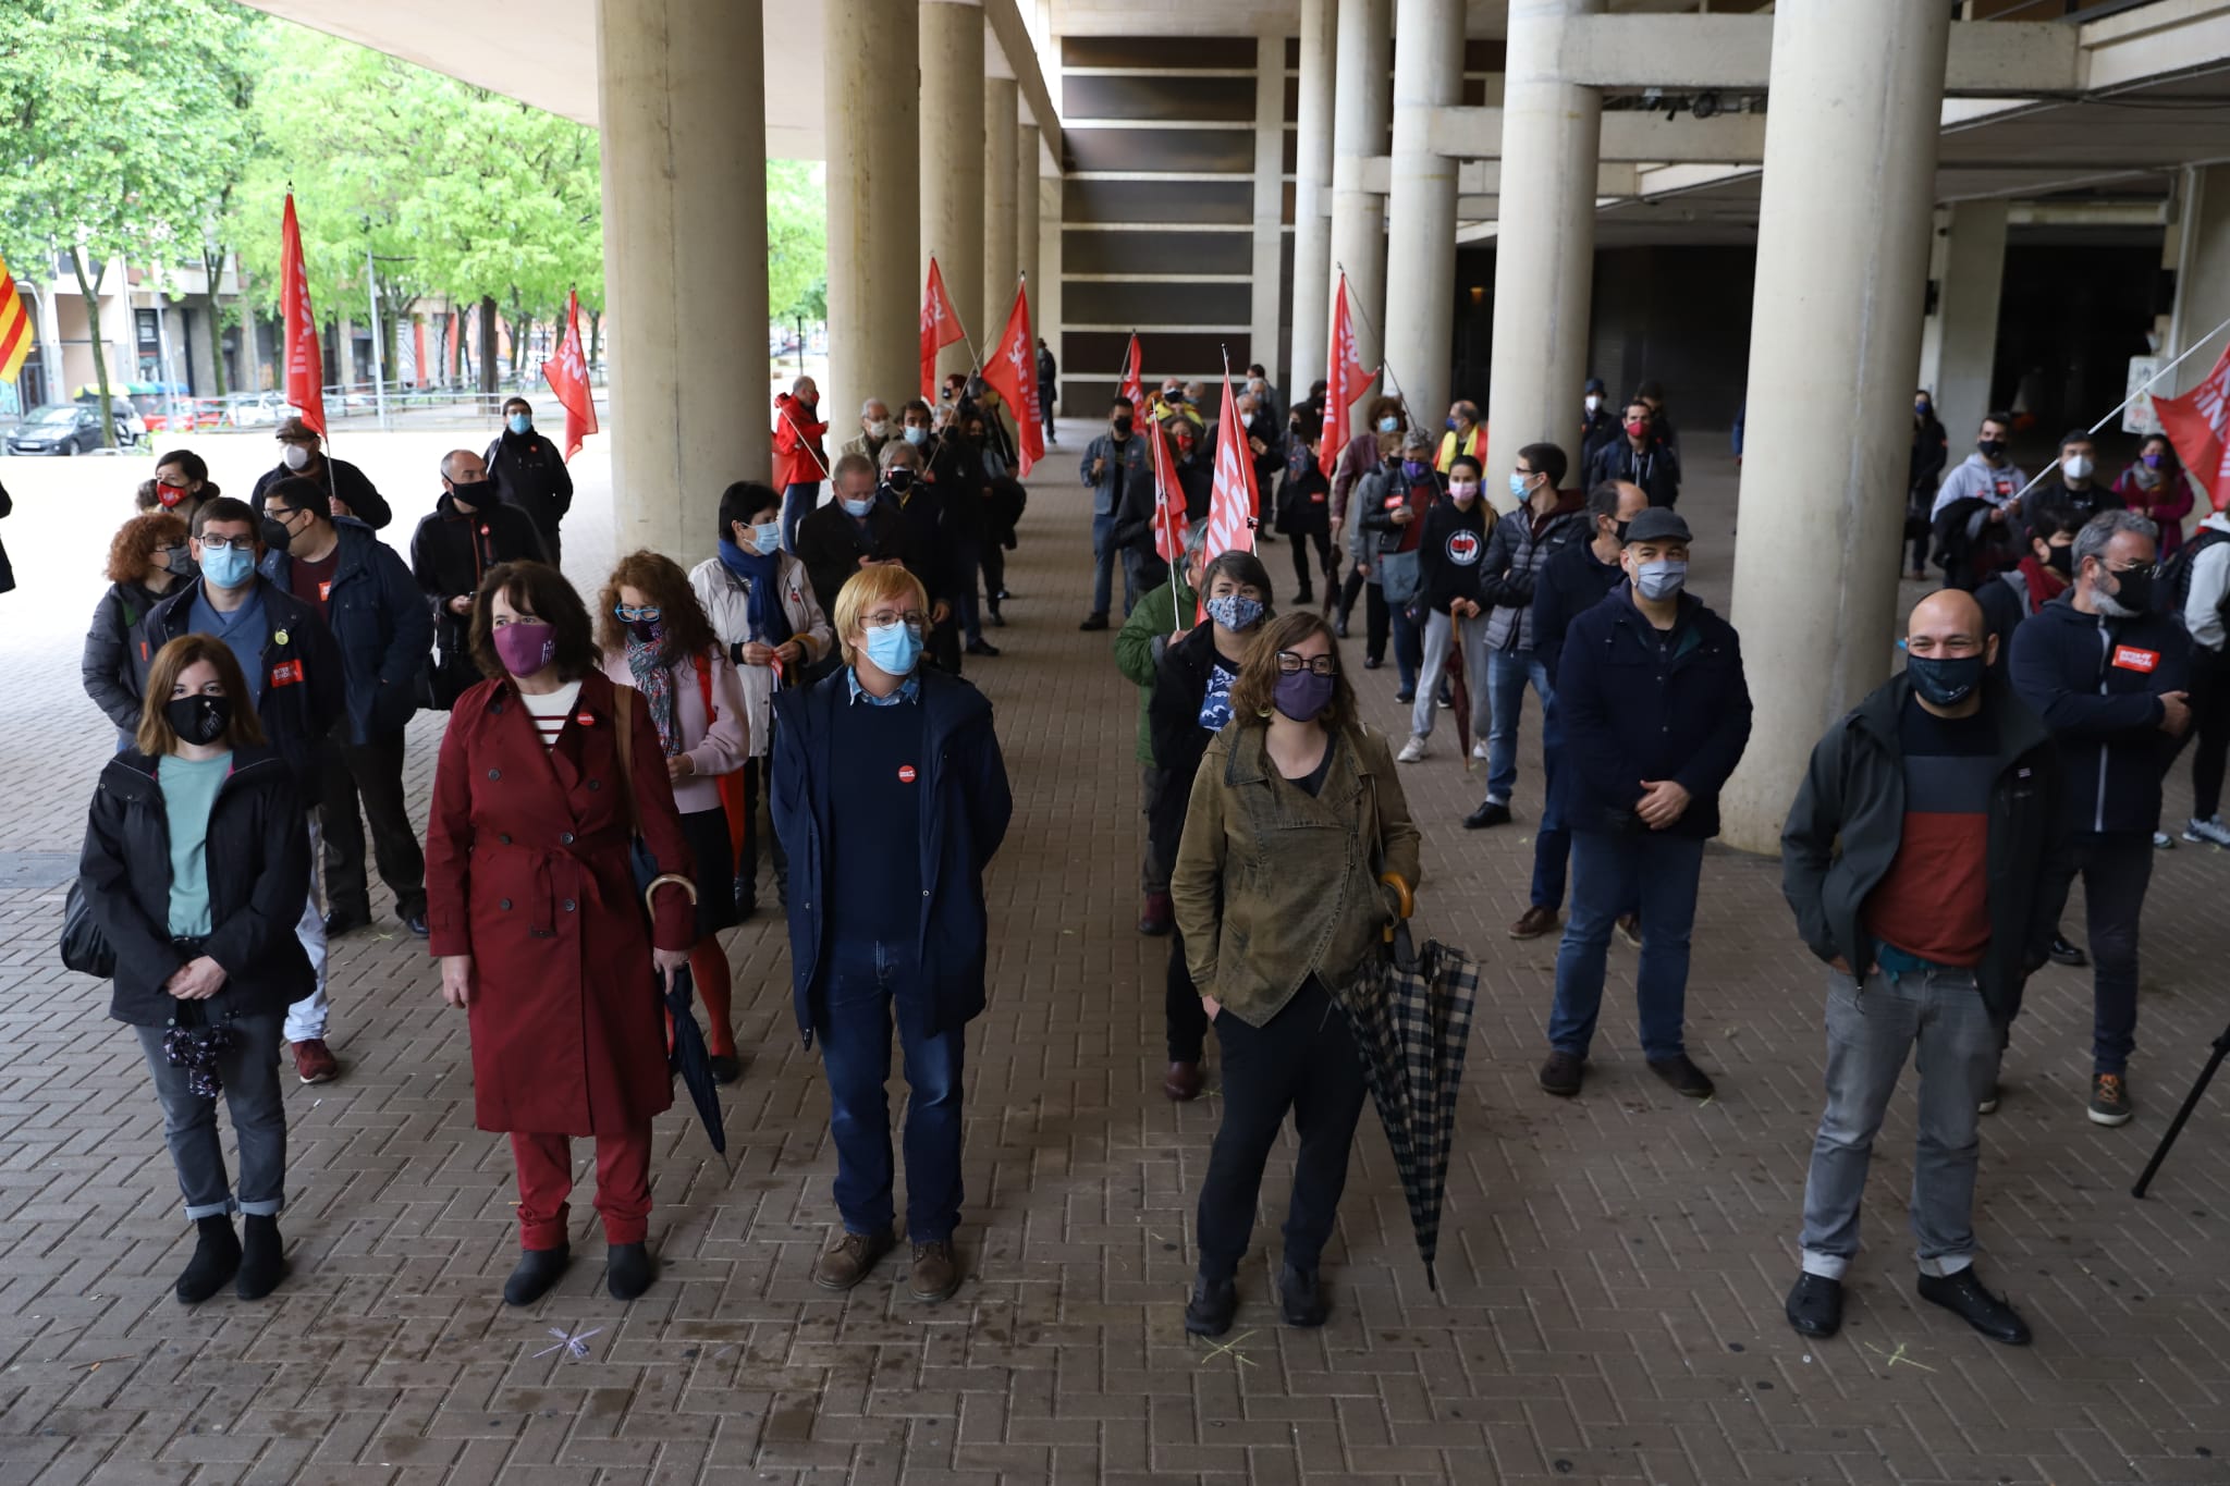
[[(210, 806), (210, 938), (203, 954), (225, 967), (210, 1020), (279, 1014), (317, 987), (294, 938), (310, 898), (310, 827), (292, 771), (270, 749), (236, 749)], [(156, 760), (136, 749), (112, 757), (94, 789), (78, 858), (78, 887), (116, 949), (109, 1016), (163, 1027), (176, 1000), (163, 989), (187, 958), (169, 938), (169, 822)]]

